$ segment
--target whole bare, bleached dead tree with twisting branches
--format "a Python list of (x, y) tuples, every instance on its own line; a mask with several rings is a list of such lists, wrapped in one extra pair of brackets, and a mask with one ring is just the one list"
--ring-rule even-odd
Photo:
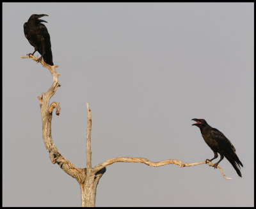
[[(34, 56), (21, 56), (21, 58), (30, 58), (33, 60), (37, 60)], [(57, 117), (60, 114), (60, 103), (59, 102), (52, 102), (51, 105), (49, 105), (49, 100), (54, 95), (56, 90), (58, 89), (60, 83), (58, 82), (58, 77), (60, 74), (58, 74), (55, 70), (55, 68), (58, 67), (58, 65), (48, 65), (43, 60), (40, 61), (40, 63), (47, 68), (51, 74), (52, 74), (52, 85), (49, 88), (49, 90), (46, 93), (42, 93), (41, 97), (38, 97), (40, 102), (40, 109), (41, 109), (41, 116), (42, 116), (42, 134), (44, 139), (44, 145), (46, 150), (49, 152), (49, 157), (51, 159), (52, 164), (58, 164), (65, 173), (72, 176), (77, 180), (77, 182), (80, 185), (81, 189), (81, 205), (90, 207), (95, 206), (95, 198), (96, 198), (96, 189), (97, 184), (99, 183), (99, 180), (101, 176), (106, 172), (106, 166), (109, 166), (115, 162), (141, 162), (143, 164), (146, 164), (148, 166), (152, 167), (159, 167), (164, 166), (166, 164), (175, 164), (180, 167), (188, 167), (188, 166), (197, 166), (200, 164), (208, 164), (209, 166), (213, 167), (213, 164), (211, 162), (193, 162), (193, 163), (186, 163), (182, 162), (181, 160), (175, 160), (175, 159), (167, 159), (160, 162), (151, 162), (148, 159), (142, 158), (142, 157), (116, 157), (113, 159), (106, 160), (105, 162), (102, 162), (101, 164), (98, 164), (95, 167), (92, 167), (92, 150), (91, 150), (91, 128), (92, 128), (92, 115), (91, 110), (89, 108), (88, 103), (87, 105), (87, 136), (86, 136), (86, 167), (85, 168), (79, 168), (74, 166), (72, 162), (68, 161), (61, 155), (60, 151), (56, 148), (52, 141), (52, 134), (51, 134), (51, 122), (52, 122), (52, 112), (54, 108), (56, 109), (56, 115)], [(218, 169), (220, 169), (223, 177), (226, 180), (230, 180), (231, 178), (228, 178), (223, 173), (221, 167), (218, 166)]]

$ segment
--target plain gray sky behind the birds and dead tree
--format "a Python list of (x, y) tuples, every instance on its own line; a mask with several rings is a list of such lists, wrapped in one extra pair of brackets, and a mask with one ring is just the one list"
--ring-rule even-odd
[[(113, 157), (202, 162), (214, 154), (192, 118), (236, 147), (244, 167), (115, 163), (96, 206), (253, 206), (253, 3), (3, 3), (3, 206), (81, 206), (79, 184), (51, 164), (37, 96), (51, 74), (31, 59), (23, 24), (45, 13), (61, 87), (52, 138), (86, 167)], [(37, 52), (36, 52), (37, 54)], [(219, 160), (220, 158), (218, 158)]]

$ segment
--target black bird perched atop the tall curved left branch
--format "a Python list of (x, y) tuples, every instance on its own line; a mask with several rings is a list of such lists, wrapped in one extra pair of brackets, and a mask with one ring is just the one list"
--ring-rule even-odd
[(38, 58), (37, 62), (44, 58), (45, 63), (53, 65), (50, 35), (45, 25), (41, 23), (46, 21), (40, 19), (40, 17), (44, 16), (48, 15), (31, 15), (28, 22), (24, 23), (25, 36), (28, 42), (35, 47), (35, 51), (28, 55), (34, 55), (38, 51), (41, 57)]

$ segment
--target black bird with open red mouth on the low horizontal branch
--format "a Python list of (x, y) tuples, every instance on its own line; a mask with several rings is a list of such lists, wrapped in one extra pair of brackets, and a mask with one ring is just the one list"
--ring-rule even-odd
[[(204, 141), (208, 146), (212, 149), (214, 152), (214, 158), (209, 160), (206, 159), (205, 161), (209, 160), (210, 162), (218, 157), (218, 153), (220, 153), (220, 160), (214, 164), (214, 167), (216, 168), (218, 164), (223, 160), (224, 156), (230, 164), (234, 167), (237, 174), (242, 177), (242, 174), (239, 170), (240, 166), (243, 167), (243, 164), (239, 160), (239, 158), (236, 155), (236, 148), (231, 144), (231, 142), (225, 137), (224, 134), (220, 132), (220, 130), (216, 128), (212, 128), (204, 119), (192, 119), (193, 121), (196, 121), (196, 123), (192, 125), (196, 125), (198, 128), (200, 128), (202, 137), (204, 138)], [(239, 168), (238, 168), (239, 166)]]

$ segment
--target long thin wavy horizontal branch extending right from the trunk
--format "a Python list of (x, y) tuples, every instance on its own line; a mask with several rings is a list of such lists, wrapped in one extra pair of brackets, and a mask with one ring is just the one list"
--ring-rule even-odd
[[(175, 159), (167, 159), (167, 160), (162, 160), (162, 161), (159, 161), (159, 162), (152, 162), (152, 161), (150, 161), (148, 159), (145, 159), (143, 157), (116, 157), (116, 158), (113, 158), (113, 159), (106, 160), (105, 162), (102, 162), (101, 164), (98, 164), (97, 166), (93, 167), (92, 172), (97, 172), (100, 169), (102, 169), (103, 167), (110, 166), (111, 164), (113, 164), (115, 162), (140, 162), (140, 163), (146, 164), (146, 165), (151, 166), (151, 167), (159, 167), (159, 166), (164, 166), (164, 165), (167, 165), (167, 164), (175, 164), (175, 165), (178, 165), (180, 167), (198, 166), (200, 164), (208, 164), (209, 166), (212, 166), (212, 167), (214, 166), (214, 164), (212, 164), (211, 162), (186, 163), (186, 162), (183, 162), (182, 160), (175, 160)], [(220, 169), (221, 174), (223, 175), (223, 177), (226, 180), (231, 179), (231, 178), (228, 178), (227, 176), (225, 176), (221, 167), (218, 166), (218, 169)]]

